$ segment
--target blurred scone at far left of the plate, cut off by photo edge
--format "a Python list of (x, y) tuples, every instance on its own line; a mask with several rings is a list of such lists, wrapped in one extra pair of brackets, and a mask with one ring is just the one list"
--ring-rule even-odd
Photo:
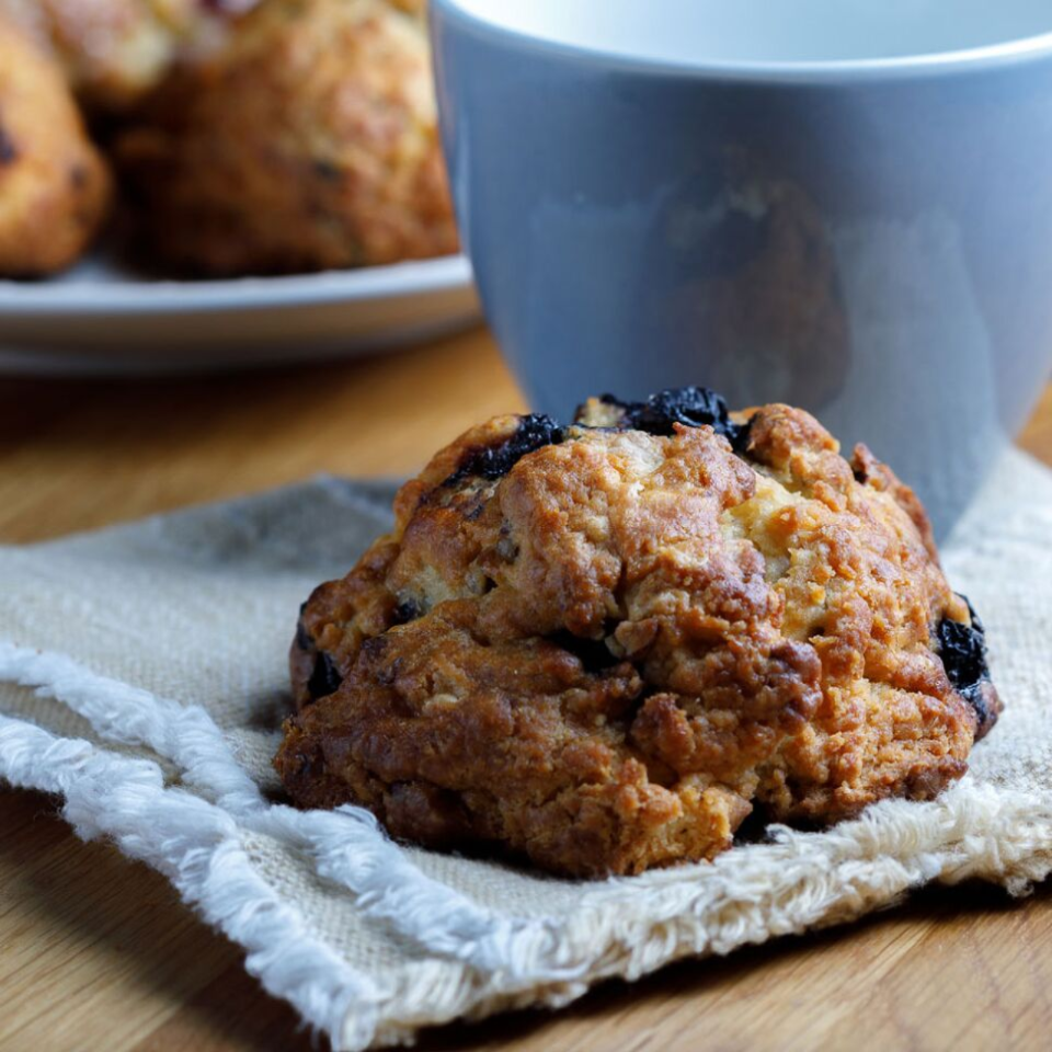
[(111, 179), (54, 60), (0, 20), (0, 275), (69, 266), (95, 236)]

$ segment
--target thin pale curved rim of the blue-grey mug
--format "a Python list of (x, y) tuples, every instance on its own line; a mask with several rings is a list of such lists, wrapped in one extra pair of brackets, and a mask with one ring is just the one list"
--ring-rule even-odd
[[(441, 14), (439, 14), (441, 12)], [(472, 35), (496, 39), (519, 50), (598, 67), (607, 71), (672, 77), (688, 80), (751, 81), (756, 83), (822, 83), (871, 80), (906, 80), (995, 70), (1028, 61), (1052, 58), (1052, 28), (1045, 33), (982, 44), (975, 47), (902, 55), (888, 58), (809, 59), (805, 61), (674, 61), (605, 52), (537, 36), (502, 25), (466, 10), (459, 0), (431, 0), (432, 32), (442, 18)]]

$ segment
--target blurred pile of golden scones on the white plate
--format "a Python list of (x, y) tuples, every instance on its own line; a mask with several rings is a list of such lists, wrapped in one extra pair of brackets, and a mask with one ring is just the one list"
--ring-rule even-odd
[(0, 0), (0, 275), (455, 252), (430, 64), (423, 0)]

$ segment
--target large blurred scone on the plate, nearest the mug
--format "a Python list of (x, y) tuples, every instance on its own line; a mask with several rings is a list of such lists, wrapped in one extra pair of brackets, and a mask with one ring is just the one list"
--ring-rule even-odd
[(222, 275), (455, 252), (420, 18), (264, 0), (118, 144), (152, 254)]

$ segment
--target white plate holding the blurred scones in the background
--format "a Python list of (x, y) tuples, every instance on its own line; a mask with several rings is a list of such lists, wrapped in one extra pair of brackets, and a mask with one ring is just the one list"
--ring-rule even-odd
[(462, 256), (293, 277), (146, 281), (105, 258), (0, 281), (0, 370), (172, 373), (350, 357), (480, 317)]

